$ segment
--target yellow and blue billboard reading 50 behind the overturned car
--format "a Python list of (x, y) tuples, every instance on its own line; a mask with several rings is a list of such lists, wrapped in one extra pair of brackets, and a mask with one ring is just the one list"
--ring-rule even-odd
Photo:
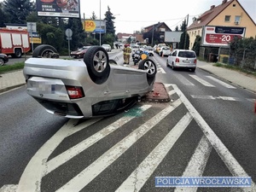
[(84, 26), (85, 32), (91, 32), (91, 33), (106, 32), (106, 20), (83, 20), (83, 26)]

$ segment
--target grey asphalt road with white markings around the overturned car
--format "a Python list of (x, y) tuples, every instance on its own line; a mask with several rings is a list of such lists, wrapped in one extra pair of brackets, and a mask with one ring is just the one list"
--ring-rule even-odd
[[(117, 57), (111, 55), (121, 62)], [(215, 192), (235, 190), (155, 188), (154, 177), (249, 176), (255, 182), (253, 93), (200, 69), (172, 71), (166, 57), (152, 59), (171, 102), (138, 102), (108, 118), (51, 116), (25, 87), (0, 95), (0, 189)]]

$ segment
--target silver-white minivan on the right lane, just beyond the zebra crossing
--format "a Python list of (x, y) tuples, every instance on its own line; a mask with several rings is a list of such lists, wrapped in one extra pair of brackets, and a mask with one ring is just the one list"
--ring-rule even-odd
[(196, 61), (194, 50), (174, 49), (166, 60), (166, 66), (171, 66), (173, 70), (176, 68), (189, 68), (192, 72), (195, 72)]

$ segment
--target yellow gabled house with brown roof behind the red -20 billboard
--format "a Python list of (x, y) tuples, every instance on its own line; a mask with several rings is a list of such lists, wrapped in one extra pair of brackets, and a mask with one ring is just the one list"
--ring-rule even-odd
[[(203, 38), (206, 26), (224, 26), (230, 29), (244, 28), (244, 38), (256, 37), (256, 25), (247, 11), (242, 8), (238, 0), (223, 0), (218, 6), (212, 5), (209, 10), (199, 18), (194, 18), (193, 23), (188, 27), (189, 49), (193, 48), (197, 35)], [(230, 37), (228, 37), (230, 40)], [(216, 44), (220, 46), (220, 44)]]

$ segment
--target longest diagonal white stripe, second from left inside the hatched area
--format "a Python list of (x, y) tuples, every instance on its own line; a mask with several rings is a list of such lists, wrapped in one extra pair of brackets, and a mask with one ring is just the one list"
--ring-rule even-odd
[(157, 125), (160, 120), (164, 119), (169, 113), (171, 113), (177, 106), (182, 102), (177, 100), (172, 103), (172, 106), (168, 106), (163, 109), (160, 113), (157, 113), (153, 118), (149, 119), (146, 123), (139, 126), (135, 131), (132, 131), (127, 137), (115, 144), (113, 148), (110, 148), (107, 152), (102, 154), (96, 161), (90, 166), (86, 167), (76, 177), (73, 177), (68, 183), (62, 186), (57, 191), (79, 191), (83, 189), (90, 181), (110, 166), (113, 161), (117, 160), (120, 155), (124, 154), (125, 151), (130, 148), (137, 140), (143, 137), (148, 131), (150, 131), (154, 125)]

